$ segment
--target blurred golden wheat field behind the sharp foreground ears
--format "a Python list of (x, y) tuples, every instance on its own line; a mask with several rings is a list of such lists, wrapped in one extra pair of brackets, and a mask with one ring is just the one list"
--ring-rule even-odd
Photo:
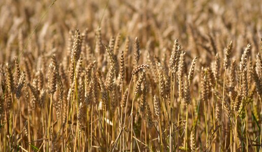
[[(121, 33), (122, 39), (138, 36), (141, 47), (155, 42), (158, 49), (172, 47), (179, 37), (182, 46), (195, 55), (206, 50), (206, 35), (215, 37), (218, 51), (231, 39), (236, 50), (249, 42), (258, 49), (261, 37), (262, 4), (243, 1), (0, 1), (0, 61), (19, 54), (19, 31), (28, 42), (30, 36), (39, 49), (45, 41), (64, 46), (70, 29), (88, 28), (92, 41), (101, 27), (102, 40)], [(33, 33), (34, 29), (36, 31)], [(32, 34), (32, 35), (31, 35)], [(197, 39), (196, 39), (197, 38)], [(50, 41), (53, 40), (53, 41)], [(94, 44), (90, 42), (90, 44)], [(158, 47), (159, 46), (159, 47)], [(90, 45), (94, 47), (94, 45)], [(26, 49), (30, 49), (30, 44)], [(60, 48), (62, 51), (63, 47)], [(243, 49), (242, 49), (243, 50)], [(252, 53), (255, 55), (255, 53)], [(11, 55), (11, 56), (10, 56)]]

